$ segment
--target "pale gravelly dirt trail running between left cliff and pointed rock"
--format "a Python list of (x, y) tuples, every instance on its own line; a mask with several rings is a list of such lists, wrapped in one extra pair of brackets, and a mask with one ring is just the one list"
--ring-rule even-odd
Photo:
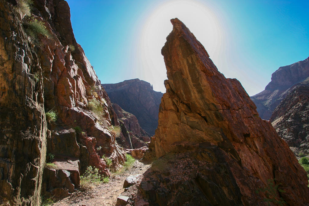
[[(78, 191), (73, 195), (66, 197), (58, 202), (51, 204), (53, 206), (94, 206), (94, 205), (115, 205), (117, 197), (125, 191), (123, 183), (129, 175), (144, 174), (150, 165), (145, 165), (136, 160), (131, 168), (122, 174), (117, 174), (109, 179), (108, 183), (101, 183), (92, 189), (84, 192)], [(140, 175), (138, 179), (142, 179)]]

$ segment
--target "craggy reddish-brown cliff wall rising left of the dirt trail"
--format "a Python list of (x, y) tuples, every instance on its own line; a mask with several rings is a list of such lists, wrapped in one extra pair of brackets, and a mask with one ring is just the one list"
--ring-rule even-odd
[[(29, 17), (15, 6), (0, 1), (0, 201), (38, 205), (47, 153), (63, 166), (49, 171), (59, 184), (43, 183), (50, 193), (73, 191), (88, 165), (109, 175), (101, 156), (118, 167), (125, 153), (110, 128), (119, 125), (111, 102), (74, 38), (68, 3), (35, 0)], [(27, 36), (33, 19), (49, 35)], [(102, 115), (88, 109), (91, 101)], [(47, 123), (50, 110), (57, 120)], [(80, 165), (67, 170), (70, 161)]]

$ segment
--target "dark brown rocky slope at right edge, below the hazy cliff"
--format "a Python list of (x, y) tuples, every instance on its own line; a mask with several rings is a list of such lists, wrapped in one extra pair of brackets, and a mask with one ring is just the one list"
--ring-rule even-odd
[(290, 147), (309, 153), (309, 87), (292, 90), (273, 111), (270, 121)]

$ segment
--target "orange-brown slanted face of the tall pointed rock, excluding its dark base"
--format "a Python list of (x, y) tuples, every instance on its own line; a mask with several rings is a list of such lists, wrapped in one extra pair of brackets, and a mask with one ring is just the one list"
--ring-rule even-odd
[(256, 190), (266, 187), (268, 179), (285, 191), (277, 191), (277, 198), (289, 205), (309, 204), (306, 172), (286, 142), (258, 116), (240, 82), (218, 71), (189, 29), (178, 19), (171, 23), (173, 30), (162, 48), (168, 80), (155, 132), (156, 156), (209, 142), (226, 154), (224, 162), (244, 205), (257, 205), (264, 198)]

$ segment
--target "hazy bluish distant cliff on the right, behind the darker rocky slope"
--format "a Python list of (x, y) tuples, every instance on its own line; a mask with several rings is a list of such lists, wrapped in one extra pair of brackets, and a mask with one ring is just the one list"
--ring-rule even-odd
[(269, 120), (274, 109), (297, 86), (309, 86), (309, 57), (288, 66), (279, 67), (272, 74), (265, 90), (252, 97), (259, 115)]

